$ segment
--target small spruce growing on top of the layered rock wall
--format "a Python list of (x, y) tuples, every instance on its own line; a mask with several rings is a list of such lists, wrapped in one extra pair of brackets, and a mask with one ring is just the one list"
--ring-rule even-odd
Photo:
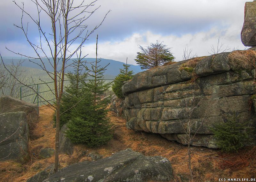
[(137, 52), (136, 61), (141, 69), (150, 69), (156, 66), (161, 66), (164, 63), (173, 61), (175, 57), (172, 56), (171, 48), (168, 48), (163, 42), (156, 44), (151, 43), (150, 46), (143, 48), (139, 45), (141, 52)]

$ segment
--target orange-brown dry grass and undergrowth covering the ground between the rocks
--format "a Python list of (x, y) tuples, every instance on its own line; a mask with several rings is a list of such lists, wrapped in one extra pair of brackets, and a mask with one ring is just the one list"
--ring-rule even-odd
[[(26, 181), (37, 172), (54, 163), (54, 156), (40, 159), (41, 148), (54, 148), (55, 129), (52, 128), (53, 111), (47, 106), (40, 107), (40, 117), (36, 133), (41, 138), (30, 141), (30, 155), (26, 163), (13, 161), (0, 162), (0, 181)], [(144, 155), (161, 155), (172, 163), (174, 179), (189, 181), (187, 147), (165, 140), (159, 135), (135, 132), (125, 127), (123, 118), (109, 112), (108, 117), (115, 130), (114, 139), (100, 148), (87, 148), (78, 145), (72, 155), (60, 155), (60, 168), (71, 163), (90, 161), (89, 154), (94, 151), (104, 157), (125, 148), (132, 148)], [(204, 147), (191, 147), (194, 181), (219, 181), (219, 178), (256, 178), (256, 147), (247, 147), (236, 154), (225, 154)]]

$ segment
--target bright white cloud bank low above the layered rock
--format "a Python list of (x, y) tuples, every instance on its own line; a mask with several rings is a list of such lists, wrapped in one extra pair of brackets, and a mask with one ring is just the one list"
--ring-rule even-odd
[[(144, 33), (134, 33), (130, 37), (122, 41), (116, 42), (100, 42), (98, 43), (98, 56), (106, 59), (114, 59), (125, 62), (128, 57), (129, 64), (136, 64), (134, 58), (136, 52), (140, 51), (138, 45), (147, 46), (151, 42), (164, 41), (168, 47), (172, 47), (172, 53), (176, 57), (176, 61), (182, 60), (183, 49), (188, 46), (193, 49), (198, 56), (209, 55), (211, 45), (216, 46), (218, 39), (224, 46), (228, 46), (231, 50), (244, 49), (240, 40), (240, 30), (236, 25), (230, 25), (228, 28), (219, 29), (212, 27), (209, 31), (201, 31), (196, 34), (184, 34), (182, 36), (154, 34), (150, 31)], [(99, 39), (100, 40), (100, 39)], [(83, 48), (84, 53), (88, 53), (88, 57), (95, 57), (96, 45), (88, 44)]]

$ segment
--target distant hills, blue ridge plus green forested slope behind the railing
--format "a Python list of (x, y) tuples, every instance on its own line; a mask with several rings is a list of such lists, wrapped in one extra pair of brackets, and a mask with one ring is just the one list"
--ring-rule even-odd
[[(20, 60), (21, 61), (24, 60), (24, 62), (22, 63), (22, 66), (19, 66), (20, 76), (18, 77), (18, 79), (21, 80), (22, 83), (24, 83), (25, 85), (36, 84), (31, 87), (33, 87), (34, 90), (37, 90), (38, 88), (38, 91), (41, 92), (40, 95), (44, 97), (44, 99), (46, 100), (54, 99), (53, 93), (51, 91), (47, 91), (47, 90), (50, 90), (50, 88), (51, 89), (54, 88), (53, 83), (48, 83), (47, 85), (44, 84), (45, 82), (52, 82), (53, 80), (48, 76), (48, 74), (44, 70), (42, 70), (40, 66), (30, 62), (28, 59), (22, 59), (22, 58), (20, 59), (17, 57), (3, 57), (3, 60), (6, 65), (11, 65), (12, 62), (14, 63), (14, 65), (16, 65), (16, 63), (18, 63)], [(87, 61), (86, 65), (88, 67), (90, 67), (90, 63), (93, 64), (93, 62), (95, 62), (95, 58), (86, 58), (85, 60)], [(40, 64), (38, 60), (33, 60), (33, 61)], [(51, 65), (47, 63), (48, 61), (46, 58), (44, 58), (44, 62), (45, 62), (46, 69), (50, 72), (53, 72)], [(69, 61), (69, 64), (71, 63), (72, 63), (72, 60)], [(124, 63), (119, 61), (114, 61), (111, 59), (101, 59), (100, 61), (101, 67), (106, 66), (108, 63), (109, 65), (107, 67), (107, 70), (104, 73), (104, 78), (114, 79), (116, 75), (119, 73), (119, 69), (123, 68)], [(141, 72), (140, 66), (137, 66), (137, 65), (131, 65), (130, 70), (132, 70), (134, 73)], [(34, 101), (37, 102), (36, 95), (31, 95), (31, 94), (34, 94), (35, 92), (32, 89), (28, 87), (24, 87), (19, 82), (13, 80), (13, 78), (9, 75), (9, 73), (4, 69), (3, 65), (1, 65), (0, 67), (0, 72), (3, 72), (3, 75), (7, 75), (7, 77), (9, 78), (7, 84), (5, 85), (7, 87), (1, 87), (1, 84), (0, 84), (0, 95), (11, 95), (13, 97), (20, 98), (20, 88), (21, 88), (22, 100), (25, 100), (31, 103), (33, 103)], [(72, 67), (67, 67), (66, 72), (73, 72)], [(0, 82), (2, 79), (0, 79)], [(110, 82), (110, 81), (112, 80), (107, 80), (107, 82)], [(37, 87), (37, 84), (39, 84), (38, 87)], [(69, 81), (65, 81), (64, 86), (68, 86), (68, 84), (69, 84)], [(12, 85), (14, 85), (14, 87), (12, 87)], [(40, 101), (42, 101), (41, 98), (39, 98), (39, 102)], [(42, 103), (40, 103), (39, 105), (42, 105)]]

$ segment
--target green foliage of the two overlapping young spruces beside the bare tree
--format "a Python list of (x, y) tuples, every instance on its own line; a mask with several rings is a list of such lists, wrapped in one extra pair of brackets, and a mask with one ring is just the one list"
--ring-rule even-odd
[[(80, 59), (74, 62), (75, 73), (67, 74), (70, 84), (60, 105), (60, 127), (68, 123), (66, 136), (73, 143), (83, 143), (88, 147), (104, 145), (112, 138), (107, 117), (108, 97), (104, 97), (110, 83), (103, 80), (107, 66), (100, 68), (99, 62), (96, 58), (90, 63), (91, 69)], [(87, 73), (82, 73), (83, 68)]]

